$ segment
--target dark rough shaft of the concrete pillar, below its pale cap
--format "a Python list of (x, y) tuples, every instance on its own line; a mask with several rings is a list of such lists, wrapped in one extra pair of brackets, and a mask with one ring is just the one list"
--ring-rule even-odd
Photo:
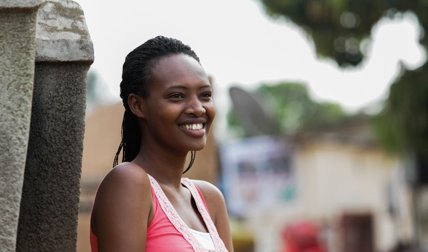
[(88, 64), (36, 62), (17, 251), (75, 251)]

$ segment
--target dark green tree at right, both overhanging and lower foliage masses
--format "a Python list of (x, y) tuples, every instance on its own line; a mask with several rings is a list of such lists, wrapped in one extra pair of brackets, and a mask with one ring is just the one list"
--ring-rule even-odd
[[(426, 0), (259, 0), (273, 17), (286, 17), (307, 31), (318, 55), (334, 58), (340, 66), (358, 65), (363, 58), (360, 43), (382, 17), (397, 12), (416, 14), (428, 27)], [(399, 16), (399, 15), (398, 15)], [(421, 32), (426, 48), (428, 38)], [(384, 110), (375, 118), (379, 138), (394, 151), (410, 151), (428, 157), (428, 66), (415, 71), (402, 68), (402, 76), (390, 89)]]

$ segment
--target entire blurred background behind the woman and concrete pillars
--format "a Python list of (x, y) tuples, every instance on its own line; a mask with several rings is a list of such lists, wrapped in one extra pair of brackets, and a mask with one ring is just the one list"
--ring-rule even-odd
[(221, 188), (236, 252), (428, 251), (427, 1), (77, 2), (95, 50), (78, 251), (120, 143), (124, 58), (157, 35), (210, 76), (217, 117), (186, 175)]

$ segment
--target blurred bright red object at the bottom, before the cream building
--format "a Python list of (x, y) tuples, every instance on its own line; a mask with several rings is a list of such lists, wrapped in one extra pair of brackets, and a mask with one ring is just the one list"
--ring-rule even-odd
[(326, 252), (319, 241), (319, 228), (312, 222), (300, 221), (282, 231), (285, 246), (280, 252)]

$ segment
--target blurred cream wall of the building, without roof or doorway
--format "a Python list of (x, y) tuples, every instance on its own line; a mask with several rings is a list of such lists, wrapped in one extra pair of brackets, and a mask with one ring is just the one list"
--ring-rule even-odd
[(343, 213), (371, 213), (376, 249), (395, 244), (387, 186), (399, 160), (375, 147), (319, 140), (298, 146), (295, 165), (308, 216), (333, 221)]

